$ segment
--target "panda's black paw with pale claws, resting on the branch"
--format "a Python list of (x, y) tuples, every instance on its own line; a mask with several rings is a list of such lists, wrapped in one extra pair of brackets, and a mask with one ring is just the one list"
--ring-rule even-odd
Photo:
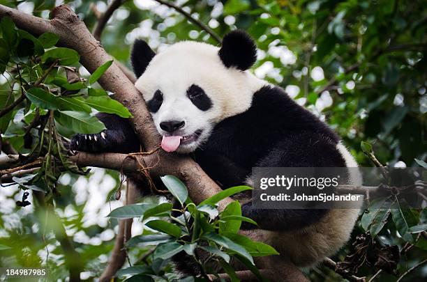
[(70, 150), (82, 152), (109, 152), (116, 144), (114, 134), (105, 130), (98, 134), (75, 134), (70, 141)]

